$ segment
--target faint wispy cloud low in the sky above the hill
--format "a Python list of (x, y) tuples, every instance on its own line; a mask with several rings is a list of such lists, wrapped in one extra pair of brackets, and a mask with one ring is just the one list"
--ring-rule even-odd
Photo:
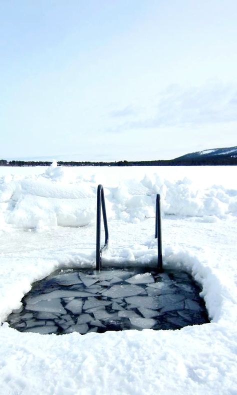
[(153, 117), (133, 121), (130, 127), (181, 126), (237, 121), (237, 86), (209, 82), (183, 89), (170, 85), (157, 96)]

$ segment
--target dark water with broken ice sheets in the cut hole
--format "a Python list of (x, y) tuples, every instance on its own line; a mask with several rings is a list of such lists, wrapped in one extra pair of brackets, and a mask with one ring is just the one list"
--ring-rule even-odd
[(208, 321), (200, 288), (181, 271), (60, 270), (33, 284), (7, 321), (22, 332), (179, 329)]

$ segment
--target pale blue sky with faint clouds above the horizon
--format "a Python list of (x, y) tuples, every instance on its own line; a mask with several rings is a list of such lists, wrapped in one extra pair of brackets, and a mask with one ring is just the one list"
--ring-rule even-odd
[(0, 158), (237, 145), (236, 0), (0, 0)]

